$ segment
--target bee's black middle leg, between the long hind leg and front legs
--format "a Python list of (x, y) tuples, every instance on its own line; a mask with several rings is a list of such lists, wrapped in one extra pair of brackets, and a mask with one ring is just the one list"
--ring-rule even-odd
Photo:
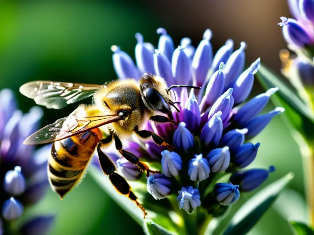
[(122, 149), (122, 143), (121, 140), (119, 139), (119, 137), (117, 137), (116, 135), (114, 135), (115, 138), (115, 142), (116, 142), (116, 149), (119, 151), (119, 153), (125, 158), (127, 159), (129, 162), (133, 163), (134, 165), (137, 165), (138, 168), (141, 171), (146, 171), (146, 175), (149, 176), (149, 173), (161, 173), (159, 170), (150, 170), (149, 167), (144, 164), (143, 162), (141, 162), (137, 156), (135, 156), (133, 153)]

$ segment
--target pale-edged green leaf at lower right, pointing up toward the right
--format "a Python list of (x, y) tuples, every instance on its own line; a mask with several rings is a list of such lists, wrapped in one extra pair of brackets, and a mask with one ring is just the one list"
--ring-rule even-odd
[(241, 235), (250, 231), (292, 179), (293, 173), (289, 173), (252, 196), (232, 217), (223, 234)]

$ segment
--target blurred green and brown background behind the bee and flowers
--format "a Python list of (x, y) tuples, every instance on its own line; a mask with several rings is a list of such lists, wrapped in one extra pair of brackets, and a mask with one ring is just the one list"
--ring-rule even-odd
[[(247, 63), (261, 57), (279, 72), (278, 52), (285, 43), (276, 23), (282, 15), (290, 16), (285, 0), (225, 0), (223, 5), (219, 0), (1, 2), (0, 88), (13, 89), (20, 109), (27, 112), (34, 102), (18, 92), (19, 86), (27, 81), (102, 84), (116, 78), (111, 45), (121, 46), (134, 58), (134, 34), (141, 32), (145, 41), (157, 45), (158, 27), (165, 27), (176, 45), (188, 36), (195, 46), (203, 31), (210, 28), (215, 51), (228, 38), (235, 40), (236, 48), (244, 40), (248, 44)], [(263, 90), (256, 82), (252, 95), (260, 92)], [(42, 125), (67, 116), (76, 106), (65, 110), (44, 108)], [(296, 212), (303, 206), (304, 196), (297, 144), (279, 117), (254, 141), (261, 142), (261, 147), (252, 167), (277, 168), (268, 183), (289, 171), (295, 173), (295, 179), (290, 185), (294, 191), (287, 191), (250, 233), (292, 234), (287, 218), (305, 217), (302, 212)], [(249, 196), (241, 197), (232, 213)], [(278, 207), (283, 209), (277, 210)], [(48, 189), (47, 196), (27, 213), (55, 214), (51, 234), (143, 233), (89, 174), (63, 201)]]

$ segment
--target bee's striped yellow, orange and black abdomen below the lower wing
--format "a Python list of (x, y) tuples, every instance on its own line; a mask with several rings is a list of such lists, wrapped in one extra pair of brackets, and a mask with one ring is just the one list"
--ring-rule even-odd
[(100, 139), (102, 133), (95, 128), (52, 144), (48, 178), (61, 198), (79, 182)]

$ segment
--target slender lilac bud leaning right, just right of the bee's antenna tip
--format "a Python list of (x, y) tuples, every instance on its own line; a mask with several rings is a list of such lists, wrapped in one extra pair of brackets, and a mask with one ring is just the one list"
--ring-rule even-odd
[(211, 106), (222, 95), (225, 87), (225, 75), (222, 72), (224, 67), (224, 62), (221, 62), (219, 70), (210, 77), (200, 105), (201, 110)]

